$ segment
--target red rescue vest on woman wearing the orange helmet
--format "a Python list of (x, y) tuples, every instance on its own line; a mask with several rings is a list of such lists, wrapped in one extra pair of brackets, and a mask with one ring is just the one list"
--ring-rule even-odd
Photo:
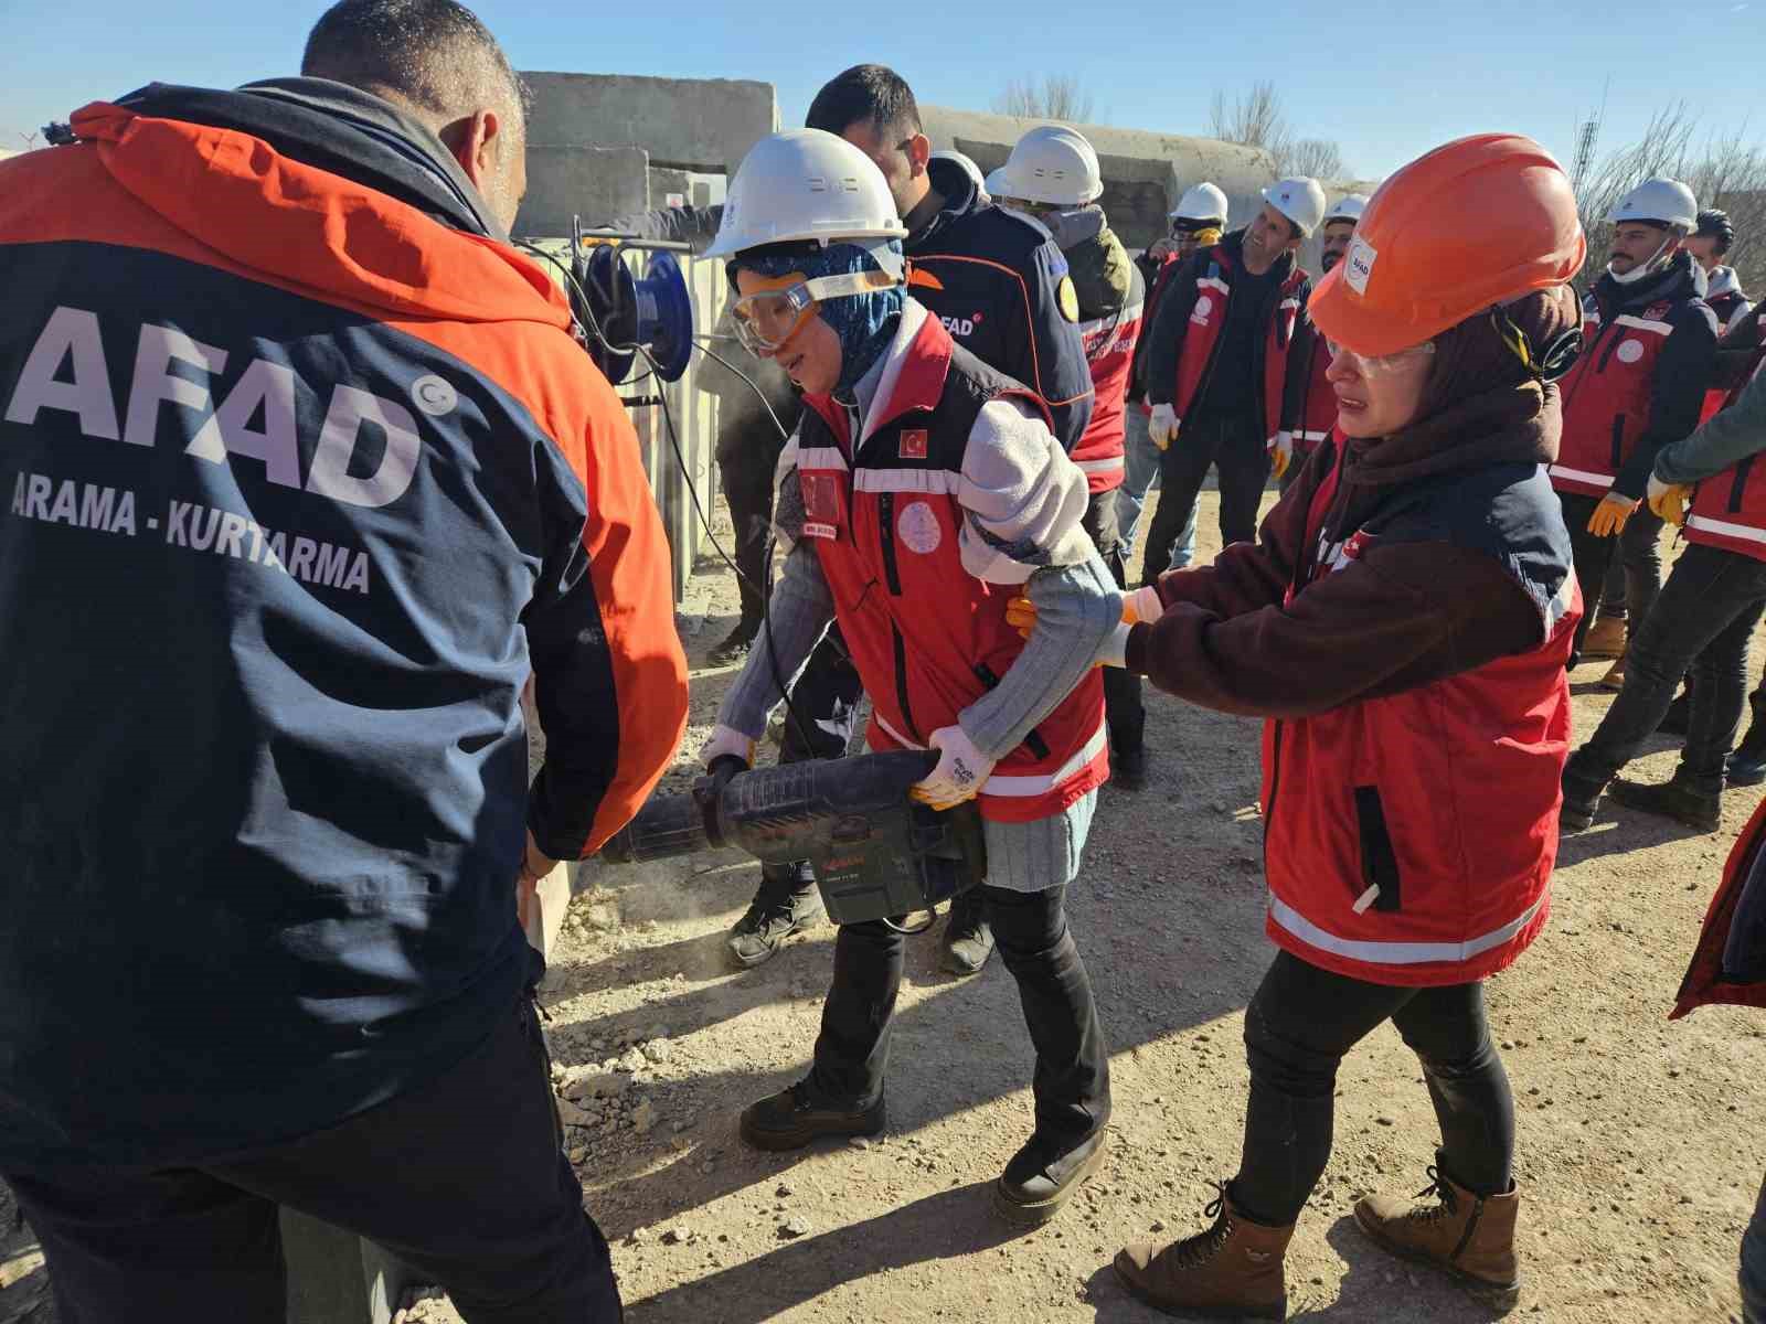
[[(1526, 653), (1399, 694), (1264, 726), (1268, 934), (1340, 974), (1450, 985), (1508, 966), (1538, 936), (1558, 854), (1570, 741), (1565, 660), (1582, 606), (1558, 501), (1536, 466), (1455, 473), (1324, 528), (1339, 459), (1314, 494), (1310, 574), (1289, 600), (1376, 542), (1489, 551), (1533, 598)], [(1491, 787), (1503, 794), (1491, 794)]]

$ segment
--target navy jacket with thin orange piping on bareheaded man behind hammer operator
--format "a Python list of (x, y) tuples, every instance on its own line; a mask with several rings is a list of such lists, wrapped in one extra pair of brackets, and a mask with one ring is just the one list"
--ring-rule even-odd
[(1040, 224), (987, 201), (961, 166), (931, 164), (945, 207), (908, 237), (908, 293), (996, 372), (1030, 387), (1072, 454), (1091, 422), (1091, 371), (1067, 258)]

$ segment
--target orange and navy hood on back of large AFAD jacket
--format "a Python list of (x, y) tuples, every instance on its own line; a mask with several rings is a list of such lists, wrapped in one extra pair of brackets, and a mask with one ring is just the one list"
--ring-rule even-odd
[(389, 318), (570, 327), (563, 291), (493, 237), (440, 139), (378, 97), (323, 79), (152, 85), (72, 129), (122, 189), (267, 282)]

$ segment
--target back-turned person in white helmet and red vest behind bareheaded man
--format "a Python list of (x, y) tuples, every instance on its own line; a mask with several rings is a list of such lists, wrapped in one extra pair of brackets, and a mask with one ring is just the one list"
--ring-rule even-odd
[[(1097, 199), (1104, 173), (1084, 134), (1067, 125), (1038, 125), (987, 177), (987, 191), (1008, 212), (1028, 215), (1060, 245), (1079, 295), (1079, 335), (1091, 365), (1091, 422), (1074, 447), (1091, 505), (1086, 533), (1118, 588), (1127, 586), (1127, 549), (1116, 528), (1116, 491), (1123, 482), (1128, 369), (1141, 339), (1146, 286)], [(1123, 791), (1146, 786), (1146, 710), (1141, 687), (1125, 671), (1104, 674), (1109, 717), (1111, 782)]]

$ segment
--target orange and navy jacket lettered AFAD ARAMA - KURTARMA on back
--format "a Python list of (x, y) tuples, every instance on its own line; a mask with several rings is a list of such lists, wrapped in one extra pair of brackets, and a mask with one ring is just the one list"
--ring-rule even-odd
[(318, 79), (72, 134), (0, 164), (0, 1165), (185, 1163), (516, 1015), (525, 833), (636, 812), (685, 662), (625, 411), (440, 141)]

